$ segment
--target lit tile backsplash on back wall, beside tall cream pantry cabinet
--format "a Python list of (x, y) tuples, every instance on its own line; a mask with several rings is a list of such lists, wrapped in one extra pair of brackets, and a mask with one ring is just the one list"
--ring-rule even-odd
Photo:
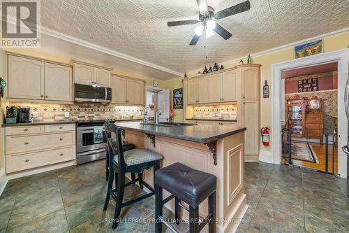
[(227, 105), (218, 105), (218, 106), (194, 106), (193, 107), (193, 118), (220, 119), (222, 115), (224, 119), (236, 120), (237, 105), (227, 104)]

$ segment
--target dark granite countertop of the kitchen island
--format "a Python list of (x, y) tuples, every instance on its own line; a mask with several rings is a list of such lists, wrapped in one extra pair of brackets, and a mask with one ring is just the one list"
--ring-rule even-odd
[(138, 122), (115, 123), (121, 129), (128, 129), (146, 134), (168, 136), (174, 139), (208, 143), (222, 139), (225, 136), (244, 132), (246, 127), (235, 127), (230, 125), (190, 125), (179, 127), (142, 125)]

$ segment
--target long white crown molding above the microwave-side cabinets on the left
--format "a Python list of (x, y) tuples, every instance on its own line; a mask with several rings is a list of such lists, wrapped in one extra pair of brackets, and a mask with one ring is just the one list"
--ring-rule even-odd
[(126, 55), (124, 53), (117, 52), (116, 50), (111, 50), (109, 48), (105, 48), (103, 46), (96, 45), (94, 43), (90, 43), (88, 41), (84, 41), (84, 40), (82, 40), (80, 38), (76, 38), (74, 36), (69, 36), (67, 34), (63, 34), (61, 32), (54, 31), (54, 30), (49, 29), (47, 27), (40, 26), (40, 31), (41, 31), (42, 34), (45, 34), (47, 36), (52, 36), (54, 38), (59, 38), (61, 40), (68, 41), (70, 43), (75, 43), (77, 45), (82, 45), (84, 47), (91, 48), (92, 50), (97, 50), (99, 52), (104, 52), (105, 54), (109, 54), (109, 55), (112, 55), (112, 56), (115, 56), (115, 57), (120, 57), (122, 59), (126, 59), (128, 61), (135, 62), (135, 63), (138, 63), (138, 64), (142, 64), (144, 66), (149, 66), (151, 68), (158, 69), (160, 71), (164, 71), (164, 72), (167, 72), (167, 73), (171, 73), (171, 74), (176, 75), (176, 76), (181, 76), (181, 73), (179, 73), (177, 71), (173, 71), (172, 69), (167, 69), (167, 68), (165, 68), (163, 66), (158, 66), (158, 65), (156, 65), (154, 63), (147, 62), (147, 61), (144, 61), (142, 59), (138, 59), (136, 57), (132, 57), (132, 56)]

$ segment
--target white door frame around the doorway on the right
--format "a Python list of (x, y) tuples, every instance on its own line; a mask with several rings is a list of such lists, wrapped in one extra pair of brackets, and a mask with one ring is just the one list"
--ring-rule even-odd
[(349, 48), (326, 52), (319, 55), (292, 59), (288, 62), (272, 64), (272, 163), (281, 164), (281, 71), (298, 69), (306, 66), (338, 62), (338, 172), (342, 178), (347, 178), (347, 155), (341, 150), (346, 145), (348, 134), (348, 119), (344, 109), (344, 90), (349, 77)]

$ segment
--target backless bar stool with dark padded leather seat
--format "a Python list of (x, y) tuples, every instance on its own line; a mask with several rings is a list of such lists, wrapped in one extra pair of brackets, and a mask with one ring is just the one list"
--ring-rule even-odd
[[(208, 223), (209, 233), (216, 232), (216, 176), (203, 171), (191, 169), (184, 164), (176, 162), (155, 173), (154, 188), (156, 198), (156, 227), (155, 232), (161, 233), (163, 223), (170, 230), (177, 232), (165, 222), (163, 218), (163, 205), (174, 198), (174, 218), (179, 224), (181, 208), (189, 212), (189, 232), (198, 233)], [(170, 192), (170, 196), (163, 199), (163, 189)], [(199, 204), (209, 198), (209, 214), (199, 223)], [(186, 202), (189, 208), (181, 204)]]

